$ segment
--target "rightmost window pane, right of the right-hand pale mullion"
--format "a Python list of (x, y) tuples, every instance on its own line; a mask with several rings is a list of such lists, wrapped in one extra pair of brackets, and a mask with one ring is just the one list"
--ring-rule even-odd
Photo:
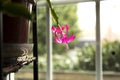
[(104, 80), (120, 79), (120, 0), (101, 2)]

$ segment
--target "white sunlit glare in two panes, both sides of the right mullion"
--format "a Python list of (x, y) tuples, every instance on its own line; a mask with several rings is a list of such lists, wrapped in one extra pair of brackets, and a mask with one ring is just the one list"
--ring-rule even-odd
[[(120, 0), (101, 1), (101, 38), (120, 40)], [(95, 3), (78, 4), (79, 26), (82, 37), (95, 37)], [(115, 35), (115, 36), (114, 36)], [(113, 39), (114, 38), (114, 39)]]

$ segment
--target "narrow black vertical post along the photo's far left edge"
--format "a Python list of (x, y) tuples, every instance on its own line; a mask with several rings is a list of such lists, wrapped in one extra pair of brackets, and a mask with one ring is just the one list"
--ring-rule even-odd
[(0, 13), (0, 80), (3, 80), (3, 60), (2, 60), (2, 47), (3, 47), (3, 24), (2, 13)]

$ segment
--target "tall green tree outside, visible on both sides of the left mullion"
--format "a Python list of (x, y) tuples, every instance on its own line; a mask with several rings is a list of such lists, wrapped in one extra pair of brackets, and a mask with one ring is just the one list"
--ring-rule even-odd
[[(61, 25), (69, 24), (69, 34), (74, 34), (76, 36), (76, 40), (69, 44), (70, 49), (74, 48), (74, 44), (77, 42), (77, 35), (80, 32), (77, 26), (77, 7), (76, 5), (68, 5), (68, 6), (54, 6), (54, 9), (59, 15), (59, 21)], [(46, 8), (38, 7), (38, 47), (39, 53), (46, 53)], [(54, 21), (53, 21), (54, 23)], [(53, 25), (56, 25), (53, 24)], [(56, 44), (53, 40), (53, 53), (65, 53), (66, 48), (62, 44)]]

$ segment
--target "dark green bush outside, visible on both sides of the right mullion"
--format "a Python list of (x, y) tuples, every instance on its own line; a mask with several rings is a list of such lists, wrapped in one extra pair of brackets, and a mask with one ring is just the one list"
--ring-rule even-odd
[[(95, 70), (95, 46), (88, 45), (83, 47), (79, 56), (79, 65), (84, 70)], [(103, 70), (120, 71), (120, 42), (106, 41), (102, 45)], [(87, 60), (86, 60), (87, 59)]]

